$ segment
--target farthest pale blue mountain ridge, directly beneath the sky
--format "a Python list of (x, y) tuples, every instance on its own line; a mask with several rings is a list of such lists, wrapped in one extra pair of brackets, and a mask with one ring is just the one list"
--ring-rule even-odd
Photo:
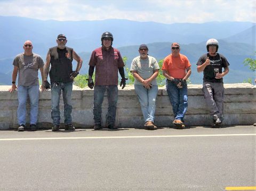
[[(61, 33), (67, 35), (68, 45), (74, 47), (77, 52), (91, 52), (100, 45), (100, 36), (104, 31), (112, 32), (115, 46), (122, 47), (166, 41), (178, 41), (181, 44), (199, 43), (209, 38), (228, 38), (254, 25), (255, 23), (251, 22), (163, 24), (118, 19), (42, 21), (17, 16), (0, 16), (0, 35), (3, 37), (0, 44), (0, 59), (19, 54), (19, 45), (27, 39), (33, 41), (35, 52), (46, 55), (47, 49), (55, 46), (57, 35)], [(247, 38), (253, 40), (253, 37)]]

